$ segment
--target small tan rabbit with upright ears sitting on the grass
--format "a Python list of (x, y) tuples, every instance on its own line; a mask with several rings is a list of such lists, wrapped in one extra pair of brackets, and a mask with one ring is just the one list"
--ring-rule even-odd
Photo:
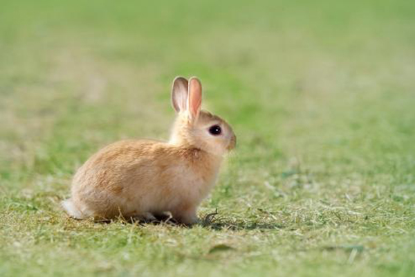
[(68, 215), (155, 220), (169, 212), (182, 224), (196, 224), (197, 208), (214, 186), (223, 156), (237, 143), (232, 127), (201, 110), (201, 103), (199, 79), (176, 77), (177, 116), (169, 141), (118, 141), (93, 154), (75, 173), (71, 198), (62, 202)]

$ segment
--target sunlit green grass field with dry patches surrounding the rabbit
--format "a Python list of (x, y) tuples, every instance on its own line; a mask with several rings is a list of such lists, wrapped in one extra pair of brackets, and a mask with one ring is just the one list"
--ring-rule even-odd
[[(414, 1), (1, 1), (0, 276), (415, 276)], [(69, 219), (89, 155), (167, 139), (197, 75), (238, 136), (210, 222)]]

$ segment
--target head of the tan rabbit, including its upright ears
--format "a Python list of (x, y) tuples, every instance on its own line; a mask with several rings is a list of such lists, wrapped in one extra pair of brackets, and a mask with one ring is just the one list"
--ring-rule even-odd
[(202, 85), (199, 79), (176, 77), (172, 105), (177, 112), (170, 143), (223, 155), (237, 143), (232, 127), (209, 111), (201, 110)]

